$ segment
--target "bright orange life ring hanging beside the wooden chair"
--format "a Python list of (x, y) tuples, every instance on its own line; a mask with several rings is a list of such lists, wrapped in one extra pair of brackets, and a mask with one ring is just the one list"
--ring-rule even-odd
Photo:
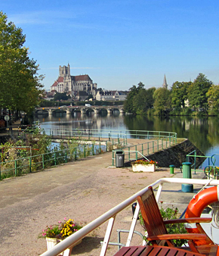
[[(190, 201), (190, 204), (188, 205), (187, 211), (185, 213), (185, 217), (200, 217), (202, 211), (209, 204), (212, 204), (215, 201), (219, 201), (219, 189), (217, 189), (217, 186), (202, 190)], [(190, 225), (189, 223), (187, 223), (185, 226), (188, 233), (200, 233), (196, 226)], [(205, 242), (200, 240), (199, 242), (196, 242), (197, 245), (201, 245), (203, 243)]]

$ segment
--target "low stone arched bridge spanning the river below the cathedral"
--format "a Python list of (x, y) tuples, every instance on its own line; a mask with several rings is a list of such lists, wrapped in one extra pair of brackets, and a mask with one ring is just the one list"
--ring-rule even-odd
[(119, 111), (120, 114), (125, 114), (123, 106), (60, 106), (35, 108), (35, 114), (53, 114), (55, 111), (66, 112), (66, 114), (72, 114), (73, 112), (86, 114), (88, 111), (94, 111), (94, 114), (99, 114), (101, 111), (107, 111), (107, 114), (113, 114), (113, 111)]

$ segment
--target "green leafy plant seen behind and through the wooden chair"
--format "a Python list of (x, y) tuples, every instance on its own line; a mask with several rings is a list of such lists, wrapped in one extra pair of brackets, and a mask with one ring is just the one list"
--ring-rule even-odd
[[(163, 220), (175, 220), (180, 217), (179, 210), (177, 208), (160, 208), (160, 213), (162, 215)], [(140, 225), (143, 226), (143, 229), (145, 229), (144, 223), (143, 223), (143, 217), (141, 214), (139, 214), (140, 219)], [(184, 227), (184, 223), (174, 223), (174, 224), (167, 224), (165, 225), (167, 228), (167, 231), (169, 234), (180, 234), (180, 233), (187, 233), (187, 229)], [(147, 240), (145, 237), (144, 239)], [(175, 246), (180, 247), (187, 243), (186, 239), (173, 239), (171, 240)]]

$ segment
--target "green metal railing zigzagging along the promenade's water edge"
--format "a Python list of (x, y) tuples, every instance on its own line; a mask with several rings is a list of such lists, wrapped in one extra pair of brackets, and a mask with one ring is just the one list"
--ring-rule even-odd
[[(25, 126), (23, 126), (23, 130), (17, 130), (17, 135), (22, 137), (22, 135), (24, 135), (24, 130), (26, 130)], [(63, 130), (60, 128), (55, 130), (45, 129), (44, 131), (53, 139), (74, 139), (77, 141), (85, 141), (88, 139), (91, 145), (79, 145), (77, 148), (66, 148), (59, 151), (51, 151), (42, 155), (30, 155), (26, 158), (19, 158), (11, 161), (2, 161), (1, 153), (2, 162), (0, 161), (0, 180), (1, 174), (4, 172), (11, 172), (11, 176), (17, 176), (21, 173), (43, 170), (46, 167), (51, 167), (52, 165), (63, 164), (72, 160), (76, 161), (78, 158), (85, 158), (89, 155), (97, 155), (104, 151), (112, 151), (115, 148), (125, 148), (125, 145), (128, 144), (127, 139), (129, 138), (154, 139), (151, 142), (134, 145), (135, 151), (141, 152), (142, 155), (144, 153), (148, 153), (151, 148), (153, 152), (159, 151), (160, 149), (174, 145), (177, 142), (177, 133), (161, 131), (89, 129)], [(97, 139), (99, 142), (94, 142), (94, 139)], [(94, 146), (94, 144), (96, 145)], [(103, 146), (103, 144), (105, 146)], [(130, 147), (126, 148), (128, 149), (128, 161), (130, 161), (132, 153)]]

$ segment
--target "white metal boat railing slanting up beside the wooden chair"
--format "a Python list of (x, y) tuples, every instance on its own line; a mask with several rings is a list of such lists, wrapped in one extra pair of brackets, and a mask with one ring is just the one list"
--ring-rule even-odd
[[(156, 180), (155, 183), (150, 184), (153, 188), (157, 188), (156, 193), (156, 201), (159, 201), (159, 196), (162, 192), (162, 184), (163, 183), (178, 183), (178, 184), (193, 184), (193, 185), (212, 185), (217, 186), (219, 185), (219, 180), (196, 180), (196, 179), (179, 179), (179, 178), (163, 178), (160, 180)], [(116, 214), (119, 214), (120, 211), (124, 210), (128, 207), (128, 205), (131, 205), (134, 201), (137, 200), (138, 195), (142, 195), (143, 192), (146, 192), (149, 186), (145, 187), (144, 189), (141, 189), (139, 192), (132, 195), (130, 198), (126, 199), (125, 201), (122, 201), (121, 204), (118, 204), (116, 207), (112, 208), (111, 210), (107, 211), (105, 214), (101, 215), (100, 217), (97, 217), (96, 220), (93, 220), (88, 225), (84, 226), (82, 229), (79, 229), (76, 233), (72, 234), (72, 236), (67, 237), (62, 242), (55, 245), (53, 248), (51, 248), (48, 251), (45, 251), (41, 256), (57, 256), (62, 251), (66, 250), (66, 248), (69, 248), (71, 245), (74, 245), (76, 242), (78, 242), (83, 237), (87, 236), (91, 231), (96, 229), (98, 226), (102, 225), (106, 222), (106, 220), (109, 220), (108, 226), (106, 228), (106, 235), (103, 240), (103, 245), (100, 251), (100, 256), (104, 256), (106, 254), (106, 249), (109, 244), (109, 238), (110, 234), (113, 229), (113, 223), (116, 218)], [(131, 243), (131, 239), (134, 233), (134, 227), (137, 221), (137, 216), (139, 213), (139, 205), (137, 204), (137, 207), (134, 212), (134, 217), (131, 222), (130, 231), (128, 233), (128, 239), (126, 242), (126, 246), (129, 246)]]

